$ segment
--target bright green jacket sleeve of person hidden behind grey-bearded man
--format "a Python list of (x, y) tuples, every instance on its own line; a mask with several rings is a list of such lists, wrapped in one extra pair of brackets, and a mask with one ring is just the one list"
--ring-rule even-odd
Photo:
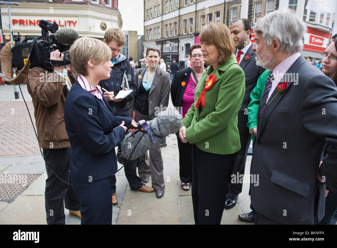
[[(247, 127), (249, 131), (252, 128), (257, 127), (257, 111), (258, 105), (260, 104), (260, 100), (262, 98), (263, 91), (265, 91), (266, 81), (271, 71), (264, 71), (259, 78), (257, 79), (256, 86), (250, 93), (250, 103), (247, 107), (248, 109), (248, 123)], [(255, 143), (256, 137), (252, 135), (252, 141)]]

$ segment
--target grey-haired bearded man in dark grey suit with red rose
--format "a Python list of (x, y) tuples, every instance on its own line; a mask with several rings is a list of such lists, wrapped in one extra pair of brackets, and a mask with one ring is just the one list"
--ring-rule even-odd
[[(255, 224), (318, 223), (325, 185), (337, 191), (337, 88), (299, 53), (305, 31), (290, 9), (254, 26), (256, 64), (272, 71), (258, 106), (250, 167), (259, 176), (250, 185)], [(322, 159), (326, 142), (331, 147)]]

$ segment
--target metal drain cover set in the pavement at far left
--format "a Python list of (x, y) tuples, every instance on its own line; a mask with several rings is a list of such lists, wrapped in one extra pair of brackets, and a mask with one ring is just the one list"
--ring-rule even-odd
[(39, 174), (0, 174), (0, 201), (15, 199)]

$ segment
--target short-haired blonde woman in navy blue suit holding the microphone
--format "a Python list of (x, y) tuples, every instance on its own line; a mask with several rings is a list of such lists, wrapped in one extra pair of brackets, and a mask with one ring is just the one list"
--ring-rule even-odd
[(81, 224), (111, 224), (110, 176), (117, 171), (115, 147), (131, 118), (114, 116), (98, 83), (110, 77), (111, 51), (100, 40), (82, 37), (70, 49), (79, 74), (67, 96), (65, 127), (71, 145), (72, 187), (81, 204)]

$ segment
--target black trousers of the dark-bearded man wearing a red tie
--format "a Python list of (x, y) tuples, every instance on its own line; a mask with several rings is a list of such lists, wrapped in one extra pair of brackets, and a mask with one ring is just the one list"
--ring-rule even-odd
[[(239, 175), (245, 174), (245, 166), (246, 166), (246, 159), (247, 159), (247, 152), (249, 148), (251, 140), (251, 134), (240, 134), (240, 144), (241, 149), (238, 151), (238, 157), (235, 161), (234, 169), (231, 174), (237, 175), (239, 172)], [(228, 182), (227, 185), (227, 197), (228, 198), (235, 198), (238, 199), (239, 194), (242, 192), (242, 183), (231, 183), (231, 181)]]

